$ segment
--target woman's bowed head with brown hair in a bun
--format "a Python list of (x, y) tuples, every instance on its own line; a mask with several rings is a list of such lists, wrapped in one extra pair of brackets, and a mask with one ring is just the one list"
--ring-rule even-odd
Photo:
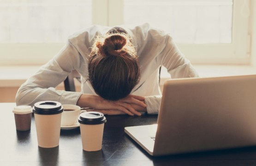
[(119, 100), (139, 82), (137, 53), (130, 36), (111, 33), (98, 36), (89, 56), (89, 81), (95, 93), (107, 100)]

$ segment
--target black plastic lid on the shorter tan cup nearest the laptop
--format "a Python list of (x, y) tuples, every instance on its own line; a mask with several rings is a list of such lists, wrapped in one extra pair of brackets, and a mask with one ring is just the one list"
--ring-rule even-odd
[(78, 122), (84, 125), (98, 125), (107, 122), (103, 113), (89, 111), (81, 113)]

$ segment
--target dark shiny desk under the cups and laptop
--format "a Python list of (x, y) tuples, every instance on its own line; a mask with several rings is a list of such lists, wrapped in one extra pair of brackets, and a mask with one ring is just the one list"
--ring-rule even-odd
[(124, 132), (125, 126), (155, 124), (157, 115), (107, 116), (102, 150), (82, 149), (79, 128), (61, 130), (60, 146), (37, 146), (36, 126), (16, 131), (12, 108), (15, 103), (0, 103), (0, 166), (251, 166), (256, 165), (256, 148), (152, 157)]

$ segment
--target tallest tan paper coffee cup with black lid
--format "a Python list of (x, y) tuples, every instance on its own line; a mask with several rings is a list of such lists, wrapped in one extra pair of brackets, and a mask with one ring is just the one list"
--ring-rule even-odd
[(60, 142), (60, 122), (63, 107), (57, 101), (40, 101), (33, 107), (38, 146), (54, 148)]

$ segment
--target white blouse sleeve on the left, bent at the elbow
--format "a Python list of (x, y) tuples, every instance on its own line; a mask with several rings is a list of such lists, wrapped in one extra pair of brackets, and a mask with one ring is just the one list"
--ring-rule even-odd
[(33, 106), (38, 101), (59, 101), (76, 104), (82, 93), (56, 90), (72, 70), (78, 68), (80, 55), (69, 41), (47, 64), (31, 76), (16, 94), (17, 105)]

